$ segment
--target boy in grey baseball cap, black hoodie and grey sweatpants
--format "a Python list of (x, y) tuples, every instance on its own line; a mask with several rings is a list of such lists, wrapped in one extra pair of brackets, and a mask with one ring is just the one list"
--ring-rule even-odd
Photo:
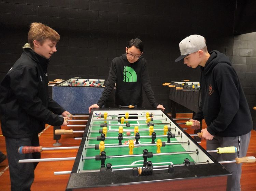
[[(202, 119), (207, 128), (202, 138), (207, 140), (207, 150), (217, 147), (236, 146), (237, 153), (210, 153), (217, 161), (234, 160), (246, 155), (253, 128), (252, 117), (238, 75), (229, 58), (219, 51), (208, 52), (206, 40), (200, 35), (190, 35), (180, 44), (181, 55), (188, 67), (200, 66), (201, 103), (192, 128), (199, 129)], [(240, 190), (241, 164), (223, 166), (232, 174), (227, 190)]]

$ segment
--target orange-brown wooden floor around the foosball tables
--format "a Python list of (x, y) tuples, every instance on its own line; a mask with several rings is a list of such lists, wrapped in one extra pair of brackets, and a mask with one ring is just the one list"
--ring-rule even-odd
[[(192, 117), (190, 114), (177, 114), (177, 118)], [(181, 121), (180, 121), (181, 122)], [(205, 124), (203, 124), (203, 128)], [(81, 130), (81, 127), (65, 129)], [(193, 133), (190, 128), (188, 133)], [(0, 134), (2, 134), (0, 130)], [(62, 135), (60, 142), (61, 146), (79, 146), (80, 140), (74, 140), (73, 137), (81, 137), (82, 134)], [(40, 135), (40, 145), (43, 147), (54, 147), (56, 142), (53, 140), (53, 127), (46, 125), (46, 129)], [(205, 148), (205, 141), (200, 143)], [(0, 151), (6, 154), (5, 140), (3, 136), (0, 136)], [(54, 150), (43, 151), (41, 158), (57, 158), (57, 157), (75, 157), (77, 150)], [(247, 152), (247, 156), (256, 156), (256, 132), (252, 131), (252, 137)], [(66, 189), (69, 175), (54, 175), (57, 171), (71, 171), (74, 161), (55, 161), (55, 162), (40, 162), (35, 169), (35, 179), (32, 184), (32, 191), (63, 191)], [(241, 189), (242, 191), (256, 190), (256, 163), (243, 164), (242, 177), (241, 177)], [(0, 190), (10, 190), (10, 177), (8, 160), (6, 159), (0, 163)]]

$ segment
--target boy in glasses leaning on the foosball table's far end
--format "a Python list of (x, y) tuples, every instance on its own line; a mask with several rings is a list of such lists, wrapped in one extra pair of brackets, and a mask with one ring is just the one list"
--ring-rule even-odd
[(142, 89), (152, 107), (165, 109), (158, 104), (151, 87), (150, 77), (147, 70), (147, 61), (143, 54), (143, 43), (140, 39), (131, 39), (126, 47), (126, 53), (112, 60), (108, 80), (101, 98), (97, 104), (89, 107), (102, 107), (109, 98), (116, 84), (115, 105), (137, 105), (142, 107)]

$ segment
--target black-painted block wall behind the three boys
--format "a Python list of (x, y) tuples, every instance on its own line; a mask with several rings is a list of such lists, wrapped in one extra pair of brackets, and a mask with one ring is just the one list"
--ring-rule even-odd
[[(47, 24), (61, 36), (48, 70), (51, 81), (106, 79), (111, 60), (139, 37), (156, 99), (169, 111), (168, 88), (162, 83), (198, 81), (200, 75), (199, 69), (174, 62), (179, 42), (200, 34), (207, 38), (209, 51), (217, 49), (232, 60), (235, 11), (236, 0), (0, 0), (0, 80), (22, 53), (31, 22)], [(242, 67), (240, 72), (251, 71)], [(146, 97), (143, 106), (149, 106)]]

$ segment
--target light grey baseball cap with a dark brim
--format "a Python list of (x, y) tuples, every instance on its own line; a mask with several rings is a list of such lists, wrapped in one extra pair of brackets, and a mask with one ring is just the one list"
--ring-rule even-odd
[(191, 53), (201, 50), (202, 48), (206, 47), (206, 44), (203, 36), (193, 34), (187, 38), (184, 38), (180, 42), (179, 46), (181, 55), (175, 60), (175, 62), (180, 61)]

